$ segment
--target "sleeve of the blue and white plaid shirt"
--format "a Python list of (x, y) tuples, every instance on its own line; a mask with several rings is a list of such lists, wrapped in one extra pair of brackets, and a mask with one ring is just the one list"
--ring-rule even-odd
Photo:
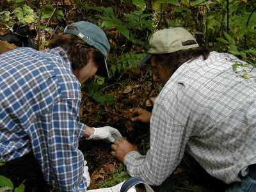
[(84, 156), (78, 149), (86, 125), (79, 122), (77, 100), (61, 100), (41, 116), (31, 145), (44, 178), (57, 191), (86, 191)]

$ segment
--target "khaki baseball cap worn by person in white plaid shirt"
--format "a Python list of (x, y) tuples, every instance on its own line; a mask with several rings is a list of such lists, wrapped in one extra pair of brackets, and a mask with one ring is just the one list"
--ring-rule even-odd
[(196, 42), (193, 35), (191, 35), (191, 33), (184, 28), (169, 28), (156, 31), (149, 40), (148, 54), (145, 56), (145, 58), (143, 58), (143, 60), (140, 61), (138, 65), (147, 63), (152, 54), (166, 54), (199, 47), (197, 43), (193, 45), (182, 45), (183, 42), (188, 40), (193, 40)]

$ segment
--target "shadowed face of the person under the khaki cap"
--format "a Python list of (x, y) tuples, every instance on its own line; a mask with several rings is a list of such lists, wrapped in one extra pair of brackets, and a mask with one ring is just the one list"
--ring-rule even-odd
[(172, 76), (172, 70), (166, 66), (158, 65), (155, 61), (155, 57), (152, 56), (151, 59), (151, 66), (155, 68), (156, 75), (159, 77), (159, 79), (162, 81), (163, 84), (165, 84), (170, 77)]

